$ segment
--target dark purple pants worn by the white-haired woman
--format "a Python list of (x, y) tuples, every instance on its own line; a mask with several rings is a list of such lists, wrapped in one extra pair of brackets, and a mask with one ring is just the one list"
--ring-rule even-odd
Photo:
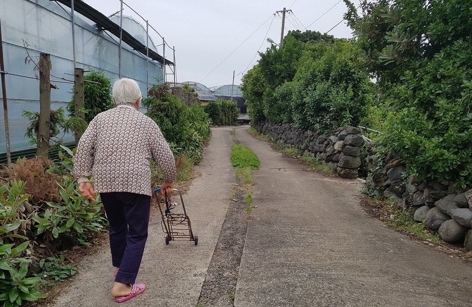
[(111, 262), (120, 268), (115, 281), (136, 281), (147, 240), (151, 197), (128, 192), (100, 193), (110, 223)]

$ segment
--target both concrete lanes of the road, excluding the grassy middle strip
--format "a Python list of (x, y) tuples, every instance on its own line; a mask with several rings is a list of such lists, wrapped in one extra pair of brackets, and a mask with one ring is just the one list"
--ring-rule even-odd
[[(195, 307), (218, 241), (234, 179), (230, 132), (213, 129), (184, 195), (200, 243), (165, 245), (152, 221), (137, 282), (146, 291), (126, 306)], [(356, 180), (307, 172), (236, 127), (241, 144), (261, 161), (254, 172), (254, 208), (237, 279), (236, 307), (472, 306), (471, 265), (384, 228), (359, 206)], [(110, 296), (108, 247), (87, 257), (56, 307), (119, 306)], [(206, 307), (206, 306), (205, 306)]]

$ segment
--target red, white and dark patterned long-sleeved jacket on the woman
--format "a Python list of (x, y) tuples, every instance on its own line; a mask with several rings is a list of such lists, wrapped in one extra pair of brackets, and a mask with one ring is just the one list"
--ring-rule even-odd
[(157, 124), (134, 107), (120, 105), (90, 122), (77, 145), (74, 178), (93, 175), (97, 193), (151, 196), (151, 159), (165, 181), (175, 180), (174, 156)]

